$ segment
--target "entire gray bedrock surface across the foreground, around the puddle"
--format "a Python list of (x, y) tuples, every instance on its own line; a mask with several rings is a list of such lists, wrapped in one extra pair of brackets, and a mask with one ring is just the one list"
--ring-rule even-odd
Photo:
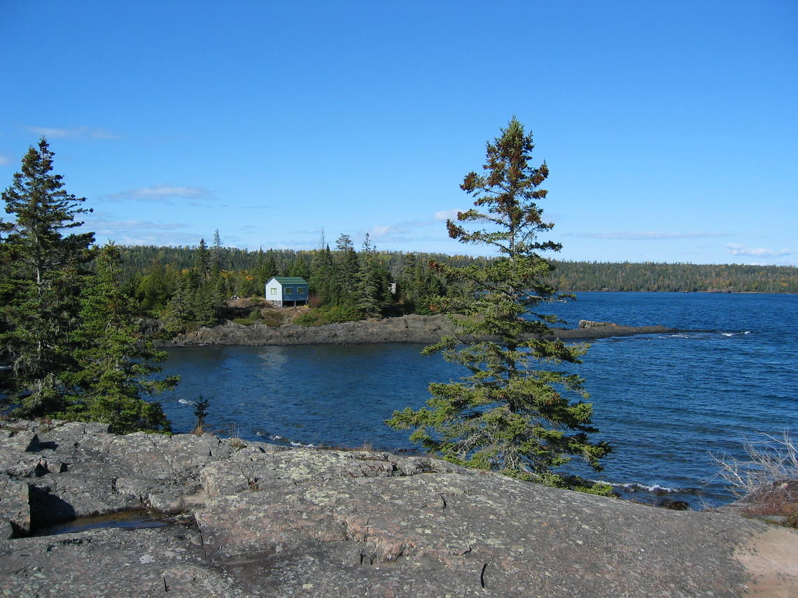
[[(6, 422), (0, 466), (7, 596), (798, 596), (788, 529), (421, 456)], [(141, 507), (169, 525), (24, 537)]]

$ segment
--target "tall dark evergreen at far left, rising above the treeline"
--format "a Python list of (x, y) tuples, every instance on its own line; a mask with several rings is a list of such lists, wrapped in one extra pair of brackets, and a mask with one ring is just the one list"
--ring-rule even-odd
[(42, 138), (2, 193), (13, 219), (2, 223), (7, 278), (0, 344), (14, 366), (10, 395), (18, 414), (28, 417), (65, 406), (65, 376), (75, 368), (77, 297), (93, 258), (93, 233), (64, 234), (81, 226), (76, 217), (91, 210), (52, 171), (53, 152)]

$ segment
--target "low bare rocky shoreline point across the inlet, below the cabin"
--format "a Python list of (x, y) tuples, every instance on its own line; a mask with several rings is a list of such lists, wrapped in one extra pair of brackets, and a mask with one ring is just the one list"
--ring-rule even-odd
[[(621, 326), (610, 322), (588, 322), (578, 329), (552, 328), (551, 338), (569, 340), (607, 336), (630, 336), (679, 332), (665, 326)], [(227, 321), (213, 328), (200, 328), (176, 336), (174, 344), (358, 344), (421, 343), (431, 344), (444, 334), (452, 334), (452, 325), (444, 316), (401, 316), (383, 319), (342, 322), (323, 326), (286, 324), (267, 326), (235, 324)]]

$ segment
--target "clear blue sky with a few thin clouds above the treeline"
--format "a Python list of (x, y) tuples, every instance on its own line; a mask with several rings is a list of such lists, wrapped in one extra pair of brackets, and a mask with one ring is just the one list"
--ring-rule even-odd
[(798, 264), (798, 2), (0, 2), (0, 188), (39, 136), (98, 242), (487, 254), (512, 115), (557, 258)]

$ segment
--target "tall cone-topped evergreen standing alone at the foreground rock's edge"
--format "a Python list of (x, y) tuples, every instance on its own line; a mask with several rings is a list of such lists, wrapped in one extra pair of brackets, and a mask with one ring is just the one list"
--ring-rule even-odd
[[(532, 311), (541, 301), (558, 297), (543, 282), (548, 263), (539, 250), (559, 250), (559, 244), (538, 242), (537, 234), (551, 229), (535, 203), (545, 199), (539, 188), (548, 175), (544, 162), (529, 163), (532, 136), (515, 117), (501, 136), (487, 146), (484, 175), (470, 172), (460, 186), (475, 197), (471, 209), (457, 214), (460, 223), (481, 223), (468, 230), (448, 221), (448, 234), (465, 243), (479, 243), (498, 251), (487, 266), (439, 266), (448, 280), (465, 281), (470, 293), (441, 298), (457, 336), (446, 336), (425, 348), (443, 352), (446, 360), (471, 372), (460, 381), (429, 385), (427, 407), (395, 411), (390, 426), (413, 428), (410, 438), (452, 462), (499, 470), (516, 478), (551, 486), (591, 484), (560, 473), (572, 456), (584, 458), (600, 470), (599, 458), (610, 447), (591, 443), (592, 406), (571, 402), (567, 395), (586, 398), (579, 376), (540, 368), (541, 363), (579, 363), (586, 350), (559, 340), (544, 340), (555, 317)], [(476, 340), (473, 340), (476, 339)], [(606, 486), (590, 490), (605, 493)]]

